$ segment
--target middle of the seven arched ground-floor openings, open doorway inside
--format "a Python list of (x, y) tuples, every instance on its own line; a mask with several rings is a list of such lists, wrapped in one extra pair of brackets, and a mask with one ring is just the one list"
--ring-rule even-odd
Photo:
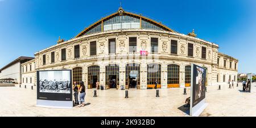
[(125, 67), (125, 85), (126, 88), (139, 88), (140, 85), (140, 69), (138, 63), (128, 63)]

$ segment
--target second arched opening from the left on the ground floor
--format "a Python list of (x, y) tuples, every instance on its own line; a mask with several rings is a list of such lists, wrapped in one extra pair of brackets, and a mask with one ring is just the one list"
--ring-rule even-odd
[(96, 82), (100, 79), (100, 66), (88, 67), (88, 88), (96, 88)]

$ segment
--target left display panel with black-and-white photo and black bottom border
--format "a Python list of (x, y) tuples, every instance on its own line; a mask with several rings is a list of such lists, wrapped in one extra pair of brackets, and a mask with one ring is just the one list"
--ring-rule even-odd
[(71, 70), (37, 71), (37, 99), (72, 101)]

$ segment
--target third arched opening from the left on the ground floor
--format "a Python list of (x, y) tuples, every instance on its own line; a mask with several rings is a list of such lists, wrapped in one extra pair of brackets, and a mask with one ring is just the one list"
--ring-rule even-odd
[(109, 64), (106, 66), (106, 87), (118, 88), (119, 86), (119, 65)]

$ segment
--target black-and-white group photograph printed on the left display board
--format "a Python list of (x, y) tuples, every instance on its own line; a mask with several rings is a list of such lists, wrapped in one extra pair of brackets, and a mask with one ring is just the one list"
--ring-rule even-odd
[(39, 92), (71, 93), (71, 74), (69, 71), (40, 71)]

